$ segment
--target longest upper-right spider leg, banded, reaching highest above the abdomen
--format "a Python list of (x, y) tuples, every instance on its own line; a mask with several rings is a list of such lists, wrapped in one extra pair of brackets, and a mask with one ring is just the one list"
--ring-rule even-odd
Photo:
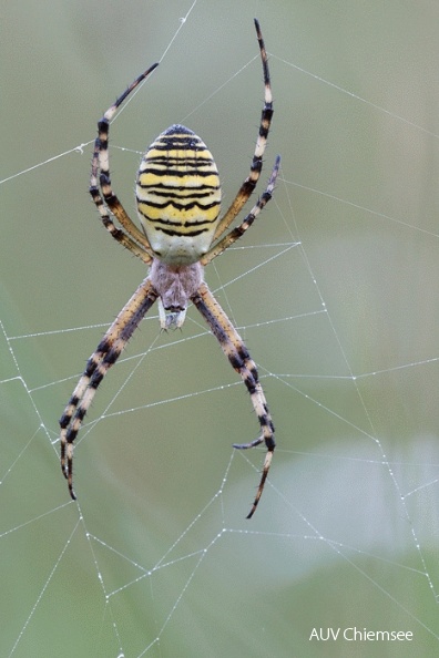
[(214, 240), (218, 239), (238, 215), (241, 209), (243, 208), (244, 204), (248, 201), (252, 192), (256, 187), (256, 183), (259, 179), (262, 166), (263, 166), (263, 156), (265, 152), (265, 146), (267, 144), (268, 131), (272, 123), (273, 117), (273, 94), (272, 94), (272, 83), (269, 81), (269, 70), (268, 70), (268, 58), (267, 51), (265, 50), (264, 40), (261, 32), (259, 22), (255, 19), (255, 28), (256, 28), (256, 35), (257, 41), (259, 44), (261, 51), (261, 60), (263, 64), (263, 72), (264, 72), (264, 85), (265, 85), (265, 95), (264, 95), (264, 106), (261, 115), (261, 123), (259, 123), (259, 133), (256, 141), (255, 153), (253, 155), (253, 161), (251, 165), (251, 171), (248, 177), (244, 181), (242, 186), (239, 187), (235, 198), (233, 199), (231, 206), (225, 212), (223, 217), (220, 219), (218, 225), (215, 230)]

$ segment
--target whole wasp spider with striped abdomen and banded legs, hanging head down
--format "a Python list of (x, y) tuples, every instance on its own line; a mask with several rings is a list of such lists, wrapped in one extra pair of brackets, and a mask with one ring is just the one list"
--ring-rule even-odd
[(277, 156), (265, 192), (243, 222), (227, 232), (259, 178), (273, 116), (267, 53), (256, 19), (255, 28), (265, 85), (259, 132), (249, 175), (222, 217), (220, 177), (213, 156), (202, 140), (183, 125), (172, 125), (164, 131), (142, 157), (135, 187), (142, 230), (131, 220), (112, 189), (110, 122), (126, 96), (154, 71), (157, 63), (134, 80), (98, 123), (90, 178), (91, 197), (112, 237), (143, 260), (150, 270), (88, 360), (60, 419), (61, 470), (73, 500), (76, 497), (73, 491), (73, 442), (99, 384), (155, 300), (159, 302), (161, 328), (165, 330), (183, 325), (187, 304), (192, 301), (247, 387), (261, 434), (254, 441), (234, 444), (234, 448), (254, 448), (263, 441), (267, 448), (256, 497), (247, 518), (253, 516), (262, 496), (276, 445), (272, 417), (256, 366), (203, 278), (204, 266), (239, 239), (272, 198), (279, 171), (280, 157)]

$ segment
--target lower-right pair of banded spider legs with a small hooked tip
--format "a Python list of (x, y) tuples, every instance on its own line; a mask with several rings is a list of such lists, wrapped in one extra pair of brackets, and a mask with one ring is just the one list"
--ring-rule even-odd
[(213, 335), (218, 340), (221, 348), (231, 362), (232, 367), (241, 374), (241, 378), (247, 387), (247, 391), (251, 395), (257, 420), (259, 421), (261, 435), (251, 443), (234, 444), (234, 448), (254, 448), (263, 441), (265, 441), (265, 445), (267, 448), (256, 497), (253, 502), (252, 510), (247, 515), (247, 518), (251, 518), (255, 513), (257, 504), (263, 494), (265, 481), (267, 479), (273, 459), (273, 452), (276, 446), (272, 417), (268, 411), (263, 388), (258, 380), (255, 362), (251, 358), (247, 348), (245, 347), (245, 343), (243, 342), (238, 332), (207, 288), (207, 285), (203, 282), (191, 299), (206, 320)]

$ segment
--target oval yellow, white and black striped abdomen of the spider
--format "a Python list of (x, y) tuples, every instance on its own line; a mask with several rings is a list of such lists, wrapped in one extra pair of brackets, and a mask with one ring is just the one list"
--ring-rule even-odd
[(154, 255), (187, 265), (208, 251), (220, 214), (220, 177), (204, 142), (183, 125), (159, 135), (136, 182), (140, 219)]

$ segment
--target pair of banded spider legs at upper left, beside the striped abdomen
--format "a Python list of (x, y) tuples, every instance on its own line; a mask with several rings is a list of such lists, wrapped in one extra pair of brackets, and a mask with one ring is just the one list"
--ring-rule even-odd
[[(120, 105), (126, 99), (126, 96), (152, 72), (159, 64), (155, 63), (147, 71), (139, 75), (136, 80), (119, 96), (115, 103), (109, 107), (102, 119), (98, 122), (98, 137), (94, 142), (94, 151), (92, 158), (92, 171), (90, 178), (90, 194), (98, 207), (101, 215), (101, 219), (106, 230), (113, 236), (115, 240), (121, 243), (126, 249), (132, 251), (135, 256), (139, 256), (144, 263), (150, 264), (151, 247), (145, 235), (139, 230), (135, 224), (130, 219), (126, 210), (122, 206), (121, 202), (113, 193), (110, 178), (110, 163), (109, 163), (109, 132), (110, 121), (113, 119)], [(98, 186), (99, 183), (102, 189), (102, 195)], [(103, 196), (103, 198), (102, 198)], [(118, 228), (111, 219), (106, 207), (110, 208), (111, 213), (118, 218), (121, 226), (126, 230)]]

